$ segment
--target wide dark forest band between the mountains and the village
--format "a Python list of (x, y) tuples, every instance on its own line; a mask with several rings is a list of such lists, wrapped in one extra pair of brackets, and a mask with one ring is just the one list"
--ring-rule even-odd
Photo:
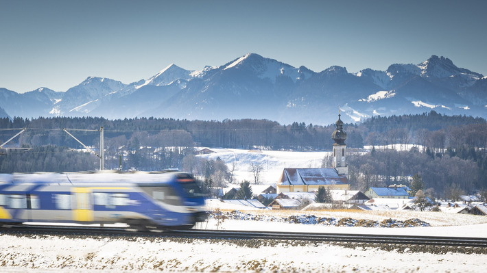
[[(271, 120), (175, 120), (171, 118), (8, 118), (0, 119), (0, 172), (67, 172), (99, 168), (100, 129), (104, 131), (104, 168), (188, 170), (219, 183), (231, 170), (200, 162), (195, 147), (329, 151), (335, 125), (281, 125)], [(23, 133), (3, 144), (21, 129)], [(68, 135), (66, 129), (80, 142)], [(350, 155), (351, 186), (410, 183), (420, 174), (425, 190), (436, 196), (452, 189), (465, 194), (487, 188), (487, 122), (470, 116), (374, 116), (344, 125)], [(399, 151), (364, 146), (402, 144)], [(414, 148), (407, 148), (414, 146)], [(327, 166), (324, 159), (324, 166)], [(224, 165), (224, 164), (223, 164)], [(218, 168), (215, 168), (218, 166)], [(215, 174), (215, 173), (218, 174)], [(216, 175), (219, 177), (217, 178)]]

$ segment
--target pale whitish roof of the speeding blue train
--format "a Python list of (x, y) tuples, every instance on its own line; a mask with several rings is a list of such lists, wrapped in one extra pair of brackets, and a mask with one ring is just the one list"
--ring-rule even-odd
[(36, 172), (0, 174), (0, 183), (165, 183), (187, 179), (185, 172)]

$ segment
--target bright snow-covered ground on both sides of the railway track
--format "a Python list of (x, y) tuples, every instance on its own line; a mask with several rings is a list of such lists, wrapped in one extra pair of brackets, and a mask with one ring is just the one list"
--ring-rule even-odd
[[(209, 202), (209, 209), (218, 207)], [(222, 211), (235, 207), (224, 205)], [(238, 209), (238, 208), (237, 208)], [(381, 233), (487, 237), (487, 217), (451, 213), (394, 214), (347, 211), (242, 211), (264, 216), (303, 213), (334, 218), (383, 220), (420, 218), (429, 227), (365, 228), (224, 220), (198, 224), (198, 229)], [(164, 239), (136, 237), (22, 237), (0, 233), (0, 272), (485, 272), (487, 255), (451, 248), (384, 249), (259, 240)]]

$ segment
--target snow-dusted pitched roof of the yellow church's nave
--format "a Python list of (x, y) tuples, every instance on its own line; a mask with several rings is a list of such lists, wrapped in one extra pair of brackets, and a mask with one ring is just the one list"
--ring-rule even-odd
[(347, 185), (345, 175), (335, 168), (285, 168), (280, 185)]

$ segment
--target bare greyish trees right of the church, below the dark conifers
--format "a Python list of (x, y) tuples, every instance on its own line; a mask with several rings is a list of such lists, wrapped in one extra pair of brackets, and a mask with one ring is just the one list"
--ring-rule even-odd
[(433, 153), (427, 148), (422, 153), (418, 148), (409, 151), (393, 149), (375, 150), (371, 153), (351, 153), (348, 157), (352, 187), (366, 190), (392, 184), (414, 185), (415, 175), (422, 178), (420, 189), (429, 196), (451, 196), (457, 190), (461, 194), (474, 194), (487, 189), (486, 152), (475, 148), (449, 149)]

